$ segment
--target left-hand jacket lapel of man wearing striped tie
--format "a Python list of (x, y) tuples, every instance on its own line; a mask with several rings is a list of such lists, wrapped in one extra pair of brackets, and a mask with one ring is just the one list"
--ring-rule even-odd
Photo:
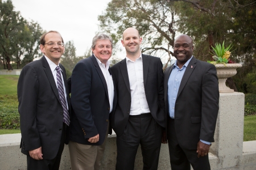
[[(44, 72), (46, 73), (46, 76), (49, 80), (49, 83), (51, 84), (51, 87), (52, 87), (52, 91), (54, 92), (55, 96), (57, 97), (57, 99), (59, 100), (59, 103), (61, 104), (61, 101), (60, 101), (60, 96), (59, 96), (59, 92), (57, 90), (57, 86), (56, 86), (56, 83), (55, 83), (55, 80), (53, 78), (53, 75), (52, 75), (52, 70), (51, 68), (49, 67), (49, 64), (46, 60), (46, 57), (42, 57), (41, 58), (41, 61), (42, 61), (42, 65), (44, 67)], [(65, 82), (65, 81), (64, 81)]]

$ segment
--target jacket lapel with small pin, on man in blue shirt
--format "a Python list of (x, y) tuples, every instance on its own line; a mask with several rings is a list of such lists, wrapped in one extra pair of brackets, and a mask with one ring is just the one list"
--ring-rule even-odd
[(179, 87), (179, 91), (177, 94), (177, 97), (179, 97), (180, 92), (183, 90), (183, 88), (185, 87), (185, 84), (187, 83), (189, 76), (192, 74), (193, 70), (196, 68), (196, 58), (193, 57), (191, 59), (191, 61), (188, 63), (188, 67), (185, 70), (185, 73), (183, 75), (183, 78), (181, 79), (180, 82), (180, 87)]

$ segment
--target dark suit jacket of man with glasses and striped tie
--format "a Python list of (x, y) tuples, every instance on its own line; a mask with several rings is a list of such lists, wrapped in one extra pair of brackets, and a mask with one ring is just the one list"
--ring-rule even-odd
[[(70, 111), (65, 68), (61, 64), (60, 68), (63, 70)], [(23, 67), (18, 81), (18, 100), (22, 153), (29, 155), (28, 151), (42, 146), (44, 159), (55, 158), (63, 128), (63, 107), (52, 71), (44, 56)], [(68, 133), (69, 128), (67, 135)], [(67, 144), (68, 140), (65, 143)]]

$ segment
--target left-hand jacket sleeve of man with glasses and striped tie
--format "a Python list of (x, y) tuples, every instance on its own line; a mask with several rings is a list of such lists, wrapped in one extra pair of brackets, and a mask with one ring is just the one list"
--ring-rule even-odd
[[(36, 102), (38, 100), (38, 75), (34, 67), (25, 66), (19, 76), (18, 100), (20, 114), (20, 131), (24, 150), (32, 151), (41, 147), (40, 137), (36, 128)], [(41, 152), (42, 154), (42, 152)]]

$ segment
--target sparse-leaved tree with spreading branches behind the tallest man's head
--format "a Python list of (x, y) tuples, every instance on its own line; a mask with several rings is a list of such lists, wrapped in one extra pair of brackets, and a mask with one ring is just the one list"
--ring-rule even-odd
[(170, 60), (176, 33), (174, 16), (166, 1), (112, 0), (98, 20), (114, 44), (121, 40), (126, 28), (135, 27), (143, 39), (142, 52), (167, 56)]

